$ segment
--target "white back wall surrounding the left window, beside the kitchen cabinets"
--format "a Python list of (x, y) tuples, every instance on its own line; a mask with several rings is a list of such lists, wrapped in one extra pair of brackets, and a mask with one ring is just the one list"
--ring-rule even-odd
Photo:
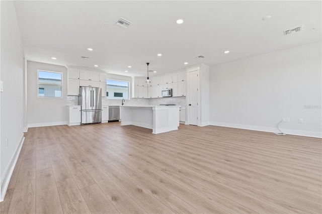
[[(62, 97), (38, 97), (37, 69), (62, 73)], [(28, 127), (67, 124), (67, 69), (64, 66), (27, 61)]]

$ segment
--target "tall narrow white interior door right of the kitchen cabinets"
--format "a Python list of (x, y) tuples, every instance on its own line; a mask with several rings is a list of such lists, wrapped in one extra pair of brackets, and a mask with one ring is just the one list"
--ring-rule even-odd
[(189, 97), (188, 97), (188, 108), (189, 108), (189, 125), (198, 126), (198, 75), (199, 70), (191, 71), (189, 75)]

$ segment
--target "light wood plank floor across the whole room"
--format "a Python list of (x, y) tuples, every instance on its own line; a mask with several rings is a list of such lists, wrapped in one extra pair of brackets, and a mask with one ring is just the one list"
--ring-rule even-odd
[(321, 213), (321, 139), (223, 127), (30, 128), (1, 213)]

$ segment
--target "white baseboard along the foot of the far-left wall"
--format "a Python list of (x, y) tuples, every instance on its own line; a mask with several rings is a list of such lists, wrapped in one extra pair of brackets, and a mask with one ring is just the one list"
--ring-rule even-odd
[(24, 134), (22, 134), (20, 142), (16, 148), (16, 152), (14, 153), (14, 155), (12, 156), (10, 163), (8, 164), (6, 171), (4, 173), (4, 176), (1, 178), (1, 196), (0, 196), (0, 201), (3, 201), (5, 199), (6, 196), (6, 192), (7, 192), (7, 188), (12, 176), (12, 173), (14, 172), (22, 145), (24, 143), (25, 140), (25, 136)]

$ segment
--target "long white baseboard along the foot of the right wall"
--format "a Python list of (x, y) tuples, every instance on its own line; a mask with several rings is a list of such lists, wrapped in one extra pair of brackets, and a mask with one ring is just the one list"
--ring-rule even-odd
[[(220, 123), (220, 122), (210, 122), (211, 126), (222, 126), (222, 127), (230, 127), (236, 129), (247, 129), (261, 132), (280, 132), (277, 128), (271, 127), (263, 127), (263, 126), (251, 126), (251, 125), (243, 125), (243, 124), (229, 124), (229, 123)], [(282, 129), (282, 131), (287, 135), (298, 135), (305, 137), (313, 137), (313, 138), (322, 138), (321, 132), (310, 132), (310, 131), (302, 131), (302, 130), (292, 130), (292, 129)]]

